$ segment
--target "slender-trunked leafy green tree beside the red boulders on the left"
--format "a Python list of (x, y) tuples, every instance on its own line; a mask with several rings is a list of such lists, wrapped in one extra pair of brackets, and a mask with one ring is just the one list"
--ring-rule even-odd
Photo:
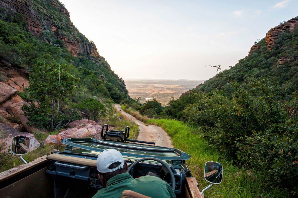
[(71, 74), (71, 69), (69, 64), (57, 62), (47, 64), (38, 60), (29, 75), (30, 86), (27, 91), (30, 95), (43, 104), (51, 104), (50, 126), (52, 130), (57, 128), (53, 123), (55, 104), (58, 99), (63, 100), (69, 96), (75, 90), (75, 85), (78, 82), (78, 78)]

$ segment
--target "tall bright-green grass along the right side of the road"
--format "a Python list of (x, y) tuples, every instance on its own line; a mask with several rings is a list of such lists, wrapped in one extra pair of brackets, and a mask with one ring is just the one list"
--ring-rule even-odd
[(162, 127), (172, 138), (175, 148), (191, 155), (187, 165), (197, 179), (200, 190), (209, 185), (203, 177), (205, 162), (217, 161), (223, 165), (222, 183), (214, 184), (206, 190), (205, 197), (289, 197), (283, 189), (276, 187), (266, 178), (265, 172), (262, 174), (251, 170), (248, 174), (244, 169), (238, 168), (235, 161), (226, 159), (224, 153), (218, 153), (211, 148), (197, 128), (169, 119), (150, 119), (148, 123)]

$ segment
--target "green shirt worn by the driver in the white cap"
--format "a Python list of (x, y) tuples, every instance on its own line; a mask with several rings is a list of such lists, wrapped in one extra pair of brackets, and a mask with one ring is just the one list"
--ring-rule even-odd
[(176, 198), (172, 188), (162, 179), (150, 175), (134, 179), (128, 172), (110, 178), (106, 188), (92, 198), (120, 198), (124, 190), (131, 190), (152, 198)]

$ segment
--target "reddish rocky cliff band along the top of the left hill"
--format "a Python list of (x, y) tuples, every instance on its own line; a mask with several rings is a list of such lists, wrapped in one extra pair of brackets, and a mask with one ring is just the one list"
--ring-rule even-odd
[[(93, 42), (90, 42), (72, 24), (69, 12), (56, 0), (0, 0), (2, 20), (21, 17), (26, 28), (34, 36), (49, 44), (63, 45), (74, 56), (85, 54), (100, 62), (100, 55)], [(62, 19), (62, 20), (61, 20)]]

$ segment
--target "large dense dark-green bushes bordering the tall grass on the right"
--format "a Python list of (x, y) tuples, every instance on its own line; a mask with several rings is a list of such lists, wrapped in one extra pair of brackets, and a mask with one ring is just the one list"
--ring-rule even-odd
[(222, 91), (198, 93), (198, 101), (183, 110), (184, 118), (198, 125), (214, 148), (297, 190), (297, 92), (287, 102), (286, 90), (267, 78), (230, 86), (231, 99)]

